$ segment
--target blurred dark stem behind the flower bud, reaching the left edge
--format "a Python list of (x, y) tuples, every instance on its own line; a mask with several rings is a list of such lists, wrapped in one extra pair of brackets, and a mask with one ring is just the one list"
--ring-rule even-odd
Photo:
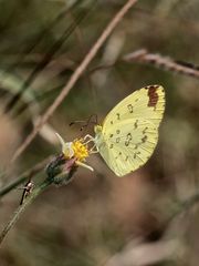
[(32, 168), (25, 171), (22, 173), (17, 180), (14, 180), (12, 183), (8, 184), (7, 186), (2, 187), (0, 190), (0, 197), (4, 196), (8, 194), (10, 191), (15, 188), (18, 185), (22, 184), (29, 178), (32, 178), (35, 174), (38, 174), (40, 171), (42, 171), (46, 163), (50, 162), (52, 156), (49, 156), (44, 158), (42, 162), (39, 162), (36, 165), (34, 165)]

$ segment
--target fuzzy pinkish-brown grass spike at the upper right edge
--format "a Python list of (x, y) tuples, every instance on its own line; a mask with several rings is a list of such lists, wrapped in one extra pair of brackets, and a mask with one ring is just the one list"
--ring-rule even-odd
[(163, 57), (160, 54), (149, 53), (145, 49), (128, 53), (123, 58), (123, 60), (126, 62), (148, 63), (155, 65), (158, 69), (177, 72), (185, 75), (191, 75), (199, 79), (199, 69), (193, 64), (176, 61), (171, 58)]

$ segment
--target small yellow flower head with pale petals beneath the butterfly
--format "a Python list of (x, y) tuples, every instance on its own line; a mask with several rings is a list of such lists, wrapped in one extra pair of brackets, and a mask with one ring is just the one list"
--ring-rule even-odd
[(70, 160), (72, 157), (76, 158), (75, 164), (83, 166), (85, 168), (88, 168), (93, 171), (91, 166), (87, 164), (84, 164), (86, 157), (90, 155), (90, 151), (87, 145), (84, 143), (83, 139), (75, 140), (73, 142), (64, 142), (61, 135), (56, 133), (61, 144), (62, 144), (62, 153), (64, 154), (64, 157), (66, 160)]

